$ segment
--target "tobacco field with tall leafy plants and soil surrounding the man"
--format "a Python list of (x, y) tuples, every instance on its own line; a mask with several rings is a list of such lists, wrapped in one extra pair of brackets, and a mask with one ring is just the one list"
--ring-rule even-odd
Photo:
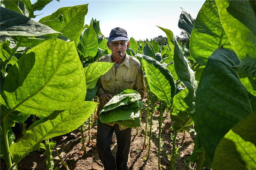
[[(96, 82), (113, 63), (96, 61), (108, 40), (84, 23), (88, 4), (32, 20), (50, 2), (1, 1), (1, 169), (101, 170)], [(185, 44), (161, 26), (166, 45), (130, 39), (147, 92), (128, 118), (131, 170), (256, 169), (255, 23), (256, 1), (207, 0), (195, 19), (182, 10)]]

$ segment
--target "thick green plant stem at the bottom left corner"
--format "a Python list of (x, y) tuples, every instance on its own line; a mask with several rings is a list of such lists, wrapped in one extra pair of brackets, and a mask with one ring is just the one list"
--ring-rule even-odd
[(9, 140), (8, 140), (8, 131), (6, 130), (6, 121), (5, 119), (2, 119), (2, 125), (1, 125), (1, 130), (3, 134), (3, 147), (4, 147), (4, 152), (6, 156), (6, 166), (7, 169), (9, 169), (12, 166), (12, 159), (11, 159), (11, 154), (9, 152)]

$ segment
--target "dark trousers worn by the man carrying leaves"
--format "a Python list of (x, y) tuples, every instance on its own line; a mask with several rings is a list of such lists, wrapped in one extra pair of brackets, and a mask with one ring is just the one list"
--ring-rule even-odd
[[(127, 161), (131, 144), (131, 128), (119, 130), (119, 125), (110, 126), (100, 122), (98, 119), (96, 145), (99, 159), (102, 161), (105, 170), (127, 170)], [(116, 134), (117, 151), (116, 164), (115, 158), (111, 152), (113, 132)]]

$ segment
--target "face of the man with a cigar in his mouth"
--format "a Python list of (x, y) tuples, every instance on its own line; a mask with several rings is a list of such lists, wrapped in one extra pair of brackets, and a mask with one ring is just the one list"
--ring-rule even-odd
[(115, 57), (120, 57), (120, 52), (122, 56), (125, 56), (125, 51), (129, 47), (129, 42), (125, 41), (113, 41), (107, 43), (108, 48), (112, 51), (112, 55)]

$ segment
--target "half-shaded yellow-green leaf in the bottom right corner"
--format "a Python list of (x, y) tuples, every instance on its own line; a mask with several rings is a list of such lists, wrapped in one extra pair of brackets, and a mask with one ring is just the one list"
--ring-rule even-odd
[(219, 142), (212, 164), (214, 170), (256, 169), (256, 113), (241, 120)]

